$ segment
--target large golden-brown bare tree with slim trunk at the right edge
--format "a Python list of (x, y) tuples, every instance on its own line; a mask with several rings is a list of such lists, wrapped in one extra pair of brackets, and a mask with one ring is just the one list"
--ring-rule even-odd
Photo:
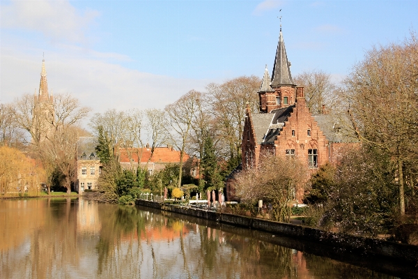
[(373, 47), (345, 80), (357, 136), (397, 166), (399, 211), (405, 214), (404, 166), (418, 152), (418, 41)]

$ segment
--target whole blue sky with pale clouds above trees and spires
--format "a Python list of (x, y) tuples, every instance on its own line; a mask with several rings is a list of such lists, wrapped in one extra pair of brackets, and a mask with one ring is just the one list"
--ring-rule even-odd
[[(163, 108), (191, 89), (272, 70), (279, 19), (291, 71), (335, 81), (418, 28), (418, 1), (3, 1), (0, 102), (49, 90), (92, 112)], [(279, 10), (281, 9), (281, 12)]]

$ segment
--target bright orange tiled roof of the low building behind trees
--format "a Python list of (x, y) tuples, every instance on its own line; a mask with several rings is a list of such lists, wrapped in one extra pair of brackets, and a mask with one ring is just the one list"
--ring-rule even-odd
[[(132, 149), (119, 149), (121, 163), (130, 163), (128, 151), (130, 152), (132, 159), (135, 163), (138, 163), (138, 157), (141, 158), (140, 163), (147, 163), (151, 156), (150, 148), (132, 148)], [(189, 155), (184, 154), (183, 162), (190, 158)], [(172, 149), (171, 147), (157, 147), (154, 150), (153, 158), (150, 163), (180, 163), (180, 151)]]

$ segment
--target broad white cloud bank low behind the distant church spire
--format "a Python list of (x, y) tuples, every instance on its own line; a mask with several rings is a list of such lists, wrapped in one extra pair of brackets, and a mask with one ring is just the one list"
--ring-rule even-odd
[[(0, 103), (10, 103), (39, 86), (42, 57), (27, 56), (17, 50), (1, 49)], [(7, 53), (8, 55), (4, 55)], [(107, 56), (107, 54), (103, 54)], [(71, 93), (92, 112), (109, 109), (164, 108), (191, 89), (205, 90), (218, 80), (179, 79), (125, 68), (95, 56), (50, 53), (45, 56), (49, 90)], [(24, 82), (22, 82), (24, 81)]]

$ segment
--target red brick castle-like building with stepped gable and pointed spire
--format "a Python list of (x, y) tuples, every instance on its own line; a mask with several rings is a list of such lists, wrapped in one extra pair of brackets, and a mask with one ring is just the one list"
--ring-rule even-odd
[[(280, 29), (272, 78), (267, 66), (258, 97), (260, 113), (251, 114), (247, 107), (242, 133), (241, 165), (226, 178), (226, 199), (235, 193), (231, 183), (240, 169), (258, 165), (263, 153), (293, 157), (307, 164), (311, 173), (327, 162), (336, 163), (341, 149), (353, 144), (353, 138), (340, 133), (338, 119), (330, 115), (312, 115), (304, 98), (304, 88), (297, 87), (291, 76), (284, 40)], [(325, 110), (323, 110), (325, 113)], [(295, 195), (302, 203), (304, 189)]]

